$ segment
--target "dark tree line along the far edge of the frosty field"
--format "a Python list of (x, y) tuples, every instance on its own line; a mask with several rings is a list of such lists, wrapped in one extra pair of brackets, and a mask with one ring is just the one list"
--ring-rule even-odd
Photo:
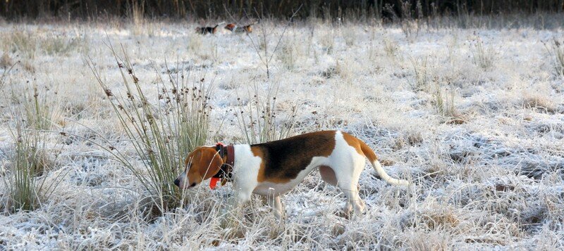
[[(434, 15), (563, 13), (564, 0), (2, 0), (8, 20), (63, 18), (157, 19), (285, 18), (302, 6), (297, 18), (424, 18)], [(405, 13), (409, 10), (412, 13)]]

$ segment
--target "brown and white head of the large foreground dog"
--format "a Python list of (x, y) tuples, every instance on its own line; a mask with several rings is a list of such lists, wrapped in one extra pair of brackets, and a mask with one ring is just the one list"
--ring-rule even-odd
[(188, 154), (184, 160), (184, 172), (174, 180), (180, 189), (192, 188), (216, 175), (223, 160), (215, 147), (201, 146)]

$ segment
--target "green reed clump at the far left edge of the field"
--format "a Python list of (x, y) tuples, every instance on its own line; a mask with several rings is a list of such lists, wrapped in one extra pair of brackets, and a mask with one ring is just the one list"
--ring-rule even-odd
[(10, 128), (10, 132), (14, 147), (8, 152), (10, 164), (2, 176), (8, 196), (0, 207), (4, 206), (8, 212), (36, 210), (49, 199), (65, 174), (56, 171), (55, 178), (47, 181), (54, 160), (49, 155), (44, 138), (46, 133), (42, 130), (51, 128), (53, 110), (47, 97), (40, 95), (36, 86), (24, 89), (23, 96), (13, 98), (23, 98), (22, 101), (16, 99), (23, 107), (12, 112), (15, 127)]

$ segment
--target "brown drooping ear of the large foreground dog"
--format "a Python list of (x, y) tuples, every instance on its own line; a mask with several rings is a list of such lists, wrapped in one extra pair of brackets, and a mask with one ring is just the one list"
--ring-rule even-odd
[(215, 148), (202, 147), (192, 159), (192, 167), (200, 173), (202, 180), (212, 178), (219, 172), (223, 160)]

